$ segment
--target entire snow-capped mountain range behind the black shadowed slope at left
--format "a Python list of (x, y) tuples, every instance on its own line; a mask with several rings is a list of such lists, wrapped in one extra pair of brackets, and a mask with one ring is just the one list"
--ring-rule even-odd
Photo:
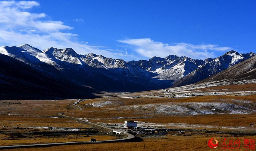
[(129, 92), (195, 83), (255, 56), (255, 53), (239, 54), (229, 51), (215, 59), (198, 60), (170, 55), (126, 62), (93, 53), (80, 55), (72, 48), (51, 47), (41, 51), (28, 44), (18, 47), (3, 46), (0, 47), (0, 53), (17, 59), (48, 77), (63, 78), (74, 85), (85, 86), (94, 91)]

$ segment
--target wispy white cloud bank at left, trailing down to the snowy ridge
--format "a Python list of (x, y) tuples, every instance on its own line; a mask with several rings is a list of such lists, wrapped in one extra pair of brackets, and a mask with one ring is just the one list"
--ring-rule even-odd
[[(30, 44), (41, 50), (48, 47), (73, 48), (77, 53), (96, 53), (106, 57), (128, 59), (131, 54), (109, 51), (107, 47), (89, 45), (78, 41), (78, 35), (71, 33), (73, 27), (61, 21), (47, 20), (45, 13), (31, 13), (30, 8), (38, 7), (35, 1), (0, 1), (0, 44)], [(83, 22), (82, 19), (76, 19)]]

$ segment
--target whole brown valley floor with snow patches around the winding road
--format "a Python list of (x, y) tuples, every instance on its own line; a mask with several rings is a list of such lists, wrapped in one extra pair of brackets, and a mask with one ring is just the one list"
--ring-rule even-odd
[[(256, 138), (254, 91), (256, 84), (107, 94), (107, 97), (89, 100), (3, 100), (0, 101), (0, 146), (123, 137), (106, 135), (99, 128), (58, 115), (65, 112), (67, 116), (108, 127), (122, 127), (124, 120), (132, 120), (137, 121), (139, 127), (166, 131), (132, 130), (136, 136), (133, 142), (63, 145), (37, 150), (120, 150), (124, 147), (129, 150), (210, 150), (207, 140), (211, 138), (217, 139), (220, 145), (224, 138), (239, 139), (243, 150), (244, 139)], [(77, 101), (80, 102), (76, 105), (82, 110), (73, 105)]]

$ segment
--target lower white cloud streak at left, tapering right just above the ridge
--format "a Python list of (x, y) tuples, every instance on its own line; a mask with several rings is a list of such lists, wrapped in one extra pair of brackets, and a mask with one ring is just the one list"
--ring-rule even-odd
[(9, 46), (30, 44), (33, 47), (37, 47), (40, 50), (56, 47), (58, 49), (73, 48), (79, 54), (95, 53), (102, 54), (103, 56), (118, 58), (119, 56), (128, 57), (122, 53), (113, 53), (102, 48), (103, 46), (90, 46), (86, 44), (80, 44), (75, 41), (76, 34), (71, 33), (50, 33), (50, 34), (36, 34), (36, 33), (17, 33), (11, 31), (0, 30), (0, 41), (4, 41)]

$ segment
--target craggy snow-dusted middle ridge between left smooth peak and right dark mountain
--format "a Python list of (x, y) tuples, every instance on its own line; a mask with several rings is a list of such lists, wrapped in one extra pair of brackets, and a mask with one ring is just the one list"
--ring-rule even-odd
[(55, 59), (73, 64), (86, 64), (94, 68), (111, 70), (112, 72), (127, 72), (127, 74), (135, 75), (138, 75), (138, 73), (148, 74), (149, 77), (170, 80), (172, 83), (204, 64), (203, 60), (194, 60), (176, 55), (170, 55), (166, 58), (152, 57), (149, 60), (126, 62), (122, 59), (111, 59), (93, 53), (79, 55), (71, 48), (48, 48), (43, 52)]

